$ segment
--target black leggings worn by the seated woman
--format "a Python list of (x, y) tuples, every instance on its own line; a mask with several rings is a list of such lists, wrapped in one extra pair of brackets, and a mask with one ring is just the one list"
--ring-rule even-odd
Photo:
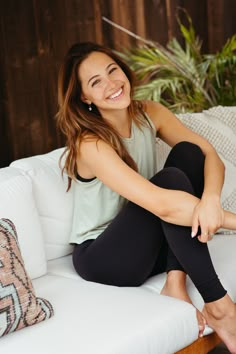
[[(182, 142), (170, 152), (151, 182), (201, 197), (204, 155), (197, 145)], [(205, 302), (226, 291), (214, 270), (208, 246), (191, 237), (191, 228), (167, 223), (128, 202), (95, 240), (76, 245), (76, 271), (86, 280), (116, 286), (139, 286), (150, 276), (170, 270), (187, 273)]]

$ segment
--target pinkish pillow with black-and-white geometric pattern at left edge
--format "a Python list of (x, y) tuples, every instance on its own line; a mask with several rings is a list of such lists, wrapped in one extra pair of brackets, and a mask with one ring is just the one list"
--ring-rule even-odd
[(0, 337), (52, 315), (50, 302), (35, 295), (14, 224), (0, 219)]

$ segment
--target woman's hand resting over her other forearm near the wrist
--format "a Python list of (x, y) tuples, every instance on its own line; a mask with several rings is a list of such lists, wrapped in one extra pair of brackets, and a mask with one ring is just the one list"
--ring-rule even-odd
[(202, 197), (196, 205), (192, 220), (192, 237), (195, 237), (200, 226), (199, 241), (207, 242), (224, 223), (224, 211), (217, 196)]

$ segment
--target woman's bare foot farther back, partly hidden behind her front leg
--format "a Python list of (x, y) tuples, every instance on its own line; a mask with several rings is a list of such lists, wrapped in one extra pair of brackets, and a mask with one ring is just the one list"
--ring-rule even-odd
[[(163, 289), (161, 290), (161, 295), (171, 296), (176, 299), (186, 301), (192, 305), (192, 301), (186, 291), (185, 281), (184, 284), (183, 282), (180, 282), (180, 284), (178, 282), (175, 282), (174, 284), (173, 282), (167, 280)], [(197, 316), (198, 328), (199, 328), (198, 336), (202, 337), (206, 325), (206, 320), (203, 314), (197, 308), (196, 308), (196, 316)]]

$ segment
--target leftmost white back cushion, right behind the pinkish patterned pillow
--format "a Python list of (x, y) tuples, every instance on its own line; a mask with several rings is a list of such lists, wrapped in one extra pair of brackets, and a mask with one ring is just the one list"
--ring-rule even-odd
[(47, 271), (43, 234), (35, 206), (32, 183), (13, 167), (0, 169), (0, 218), (16, 225), (25, 267), (31, 279)]

